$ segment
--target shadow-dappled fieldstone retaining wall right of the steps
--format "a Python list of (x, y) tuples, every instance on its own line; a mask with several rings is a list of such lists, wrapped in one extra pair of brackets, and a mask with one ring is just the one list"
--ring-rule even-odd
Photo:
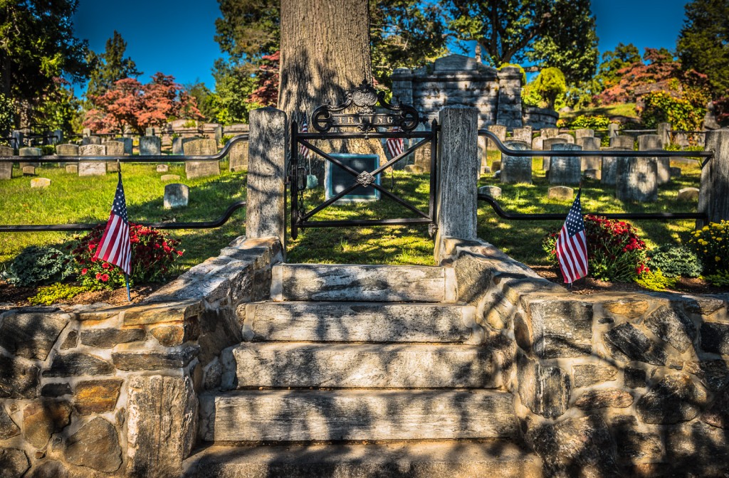
[(729, 294), (571, 294), (488, 243), (449, 239), (550, 477), (724, 477)]

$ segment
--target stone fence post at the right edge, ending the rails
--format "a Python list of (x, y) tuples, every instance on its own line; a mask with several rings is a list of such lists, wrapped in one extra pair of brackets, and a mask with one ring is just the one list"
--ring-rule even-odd
[(729, 220), (729, 128), (706, 131), (706, 151), (713, 151), (714, 157), (701, 170), (698, 211), (706, 213), (709, 222)]

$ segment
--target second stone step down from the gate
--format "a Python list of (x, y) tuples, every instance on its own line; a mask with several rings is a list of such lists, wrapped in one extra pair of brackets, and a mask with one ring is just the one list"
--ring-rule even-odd
[[(260, 302), (238, 308), (245, 340), (286, 342), (467, 342), (467, 305), (378, 302)], [(478, 339), (478, 337), (474, 337)]]

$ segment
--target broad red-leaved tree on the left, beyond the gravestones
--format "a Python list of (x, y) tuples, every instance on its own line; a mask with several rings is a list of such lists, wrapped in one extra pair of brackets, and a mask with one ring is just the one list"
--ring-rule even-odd
[(161, 127), (169, 119), (202, 119), (195, 98), (174, 77), (157, 73), (147, 85), (133, 78), (120, 79), (103, 95), (92, 98), (94, 109), (87, 111), (84, 126), (97, 133), (123, 131), (128, 125), (144, 134), (149, 127)]

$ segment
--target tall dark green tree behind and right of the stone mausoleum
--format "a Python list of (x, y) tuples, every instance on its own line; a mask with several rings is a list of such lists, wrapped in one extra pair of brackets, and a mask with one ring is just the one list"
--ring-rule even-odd
[(474, 41), (493, 66), (555, 66), (567, 82), (586, 81), (598, 60), (590, 0), (448, 0), (450, 28)]

